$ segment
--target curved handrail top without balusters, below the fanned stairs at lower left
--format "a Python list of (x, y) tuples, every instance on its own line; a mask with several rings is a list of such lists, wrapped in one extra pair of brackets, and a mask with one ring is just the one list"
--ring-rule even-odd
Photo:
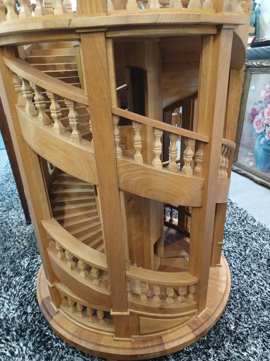
[(45, 231), (51, 236), (51, 238), (53, 238), (55, 242), (58, 242), (73, 256), (85, 262), (87, 265), (90, 265), (91, 267), (96, 267), (104, 271), (108, 270), (106, 256), (104, 253), (96, 251), (96, 249), (93, 249), (80, 242), (77, 238), (66, 231), (56, 221), (56, 219), (51, 218), (50, 221), (44, 221), (42, 219), (41, 224)]

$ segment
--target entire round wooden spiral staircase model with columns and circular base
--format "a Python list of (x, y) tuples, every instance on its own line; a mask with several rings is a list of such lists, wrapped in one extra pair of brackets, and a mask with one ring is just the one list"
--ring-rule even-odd
[(166, 355), (226, 306), (250, 5), (0, 0), (1, 100), (42, 259), (37, 298), (80, 350)]

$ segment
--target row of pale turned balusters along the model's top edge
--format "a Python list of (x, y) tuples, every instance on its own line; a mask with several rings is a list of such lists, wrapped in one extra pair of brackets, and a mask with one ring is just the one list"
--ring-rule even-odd
[[(88, 0), (87, 0), (88, 1)], [(93, 1), (93, 0), (91, 0)], [(101, 0), (95, 0), (96, 3)], [(78, 8), (84, 8), (85, 0), (77, 0)], [(120, 5), (119, 5), (120, 4)], [(217, 5), (216, 5), (217, 4)], [(215, 6), (216, 5), (216, 6)], [(100, 5), (102, 12), (114, 14), (114, 10), (127, 10), (143, 13), (144, 9), (184, 9), (190, 10), (208, 10), (215, 12), (234, 12), (244, 13), (246, 10), (246, 1), (244, 0), (220, 0), (217, 3), (213, 0), (126, 0), (124, 2), (115, 2), (107, 0), (107, 8), (104, 3)], [(216, 7), (216, 8), (215, 8)], [(76, 11), (74, 11), (76, 13)], [(81, 12), (81, 11), (80, 11)], [(15, 0), (0, 0), (0, 22), (10, 21), (20, 18), (39, 17), (46, 15), (72, 14), (71, 0), (36, 0), (36, 4), (31, 4), (30, 0), (22, 0), (21, 6), (17, 7)]]

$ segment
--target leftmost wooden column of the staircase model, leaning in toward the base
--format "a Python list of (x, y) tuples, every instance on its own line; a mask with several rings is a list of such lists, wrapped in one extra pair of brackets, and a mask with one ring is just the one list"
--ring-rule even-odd
[(38, 155), (23, 139), (16, 107), (14, 106), (14, 104), (17, 104), (17, 94), (13, 86), (12, 74), (3, 62), (3, 56), (15, 57), (16, 52), (17, 49), (11, 47), (0, 49), (0, 86), (3, 88), (5, 86), (5, 91), (1, 92), (1, 99), (17, 157), (24, 191), (26, 193), (51, 300), (57, 309), (62, 303), (60, 294), (54, 286), (54, 282), (58, 281), (58, 279), (51, 268), (48, 252), (46, 250), (49, 247), (49, 239), (40, 222), (41, 219), (51, 219), (50, 207), (46, 196)]

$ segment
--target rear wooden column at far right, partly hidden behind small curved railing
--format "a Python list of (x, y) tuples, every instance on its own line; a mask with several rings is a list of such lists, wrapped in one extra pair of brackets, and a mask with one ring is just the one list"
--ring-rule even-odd
[[(230, 69), (229, 92), (227, 114), (225, 117), (225, 139), (235, 142), (235, 135), (237, 130), (238, 114), (240, 107), (240, 97), (242, 93), (243, 83), (243, 69)], [(231, 174), (231, 164), (233, 161), (233, 151), (229, 153), (230, 167), (228, 169), (228, 178)], [(224, 225), (226, 218), (227, 202), (220, 203), (216, 206), (216, 221), (213, 235), (213, 248), (211, 266), (215, 267), (220, 264), (220, 257), (222, 252)]]

